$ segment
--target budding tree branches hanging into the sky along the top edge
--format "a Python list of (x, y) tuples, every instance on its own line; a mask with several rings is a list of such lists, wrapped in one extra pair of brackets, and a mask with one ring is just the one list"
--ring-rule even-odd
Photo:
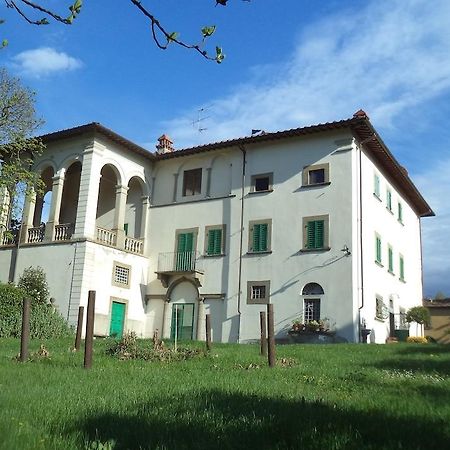
[[(115, 0), (117, 1), (117, 0)], [(159, 19), (150, 11), (150, 9), (143, 5), (142, 0), (129, 0), (130, 3), (150, 22), (151, 36), (155, 44), (161, 50), (166, 50), (170, 44), (179, 45), (180, 47), (194, 50), (204, 58), (221, 63), (225, 55), (222, 47), (216, 46), (215, 52), (211, 54), (205, 49), (206, 41), (211, 37), (215, 31), (215, 25), (207, 25), (200, 29), (201, 40), (198, 43), (186, 42), (180, 38), (180, 33), (177, 31), (168, 31), (168, 29), (161, 24)], [(251, 0), (242, 0), (250, 2)], [(48, 9), (42, 5), (41, 2), (30, 0), (5, 0), (8, 8), (14, 9), (25, 21), (31, 25), (48, 25), (50, 21), (59, 22), (64, 25), (71, 25), (78, 17), (82, 8), (83, 0), (75, 0), (74, 3), (68, 6), (69, 14), (63, 15), (54, 10)], [(112, 2), (111, 2), (112, 3)], [(221, 6), (227, 6), (228, 0), (212, 0), (212, 3)], [(6, 45), (7, 41), (3, 42)]]

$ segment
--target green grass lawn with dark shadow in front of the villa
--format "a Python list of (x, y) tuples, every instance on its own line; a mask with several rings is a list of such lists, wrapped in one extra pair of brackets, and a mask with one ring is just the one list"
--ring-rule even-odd
[(0, 340), (2, 449), (449, 448), (450, 346), (278, 346), (294, 365), (269, 369), (254, 345), (169, 364), (96, 341), (87, 371), (72, 341), (45, 344), (21, 364)]

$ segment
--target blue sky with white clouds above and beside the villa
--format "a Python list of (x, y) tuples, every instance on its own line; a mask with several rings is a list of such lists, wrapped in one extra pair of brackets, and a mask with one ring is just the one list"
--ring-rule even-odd
[(449, 1), (142, 1), (186, 40), (217, 25), (210, 48), (225, 62), (158, 50), (125, 0), (85, 0), (70, 27), (0, 10), (1, 63), (36, 91), (42, 132), (97, 121), (150, 150), (163, 133), (180, 148), (362, 108), (437, 214), (422, 226), (425, 294), (450, 296)]

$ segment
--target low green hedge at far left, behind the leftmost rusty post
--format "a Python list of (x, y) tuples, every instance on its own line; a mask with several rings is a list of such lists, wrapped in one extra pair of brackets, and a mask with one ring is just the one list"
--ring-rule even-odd
[[(0, 337), (18, 338), (22, 332), (22, 305), (26, 293), (0, 283)], [(52, 305), (32, 302), (30, 336), (37, 339), (70, 336), (72, 329)]]

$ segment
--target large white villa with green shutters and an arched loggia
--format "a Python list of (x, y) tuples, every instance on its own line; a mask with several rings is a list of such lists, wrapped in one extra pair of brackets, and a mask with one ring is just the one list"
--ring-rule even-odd
[(155, 153), (98, 123), (42, 139), (45, 195), (0, 241), (0, 281), (42, 267), (72, 324), (95, 290), (98, 336), (204, 339), (210, 314), (214, 341), (250, 342), (270, 302), (280, 339), (326, 317), (384, 343), (422, 304), (434, 213), (363, 111), (183, 150), (162, 136)]

